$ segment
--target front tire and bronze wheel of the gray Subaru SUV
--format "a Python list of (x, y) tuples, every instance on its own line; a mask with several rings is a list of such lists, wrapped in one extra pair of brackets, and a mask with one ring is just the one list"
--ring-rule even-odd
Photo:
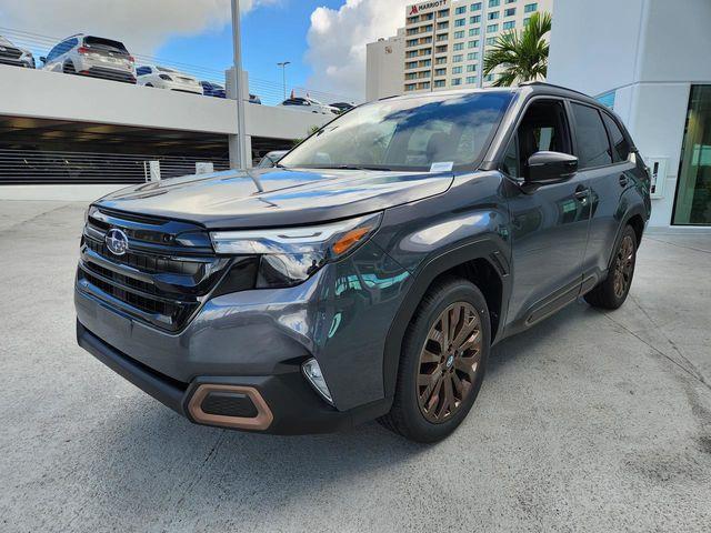
[(479, 394), (490, 339), (481, 291), (460, 278), (435, 282), (405, 331), (392, 409), (380, 422), (417, 442), (447, 438)]

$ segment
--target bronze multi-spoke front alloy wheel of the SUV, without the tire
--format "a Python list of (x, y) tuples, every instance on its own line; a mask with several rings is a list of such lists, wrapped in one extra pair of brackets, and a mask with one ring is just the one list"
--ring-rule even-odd
[(434, 321), (420, 352), (418, 403), (429, 422), (450, 420), (475, 382), (481, 360), (481, 320), (467, 302), (449, 305)]

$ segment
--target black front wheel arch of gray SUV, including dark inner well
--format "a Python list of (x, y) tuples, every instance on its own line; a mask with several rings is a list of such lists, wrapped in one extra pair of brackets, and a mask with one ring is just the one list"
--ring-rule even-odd
[(487, 300), (493, 343), (503, 331), (510, 293), (510, 272), (504, 250), (491, 239), (464, 244), (425, 260), (415, 273), (388, 331), (383, 353), (385, 398), (392, 398), (394, 394), (405, 331), (432, 284), (444, 276), (455, 275), (477, 285)]

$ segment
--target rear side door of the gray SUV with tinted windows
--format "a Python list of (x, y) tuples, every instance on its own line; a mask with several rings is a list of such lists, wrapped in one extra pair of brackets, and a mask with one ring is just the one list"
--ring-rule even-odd
[[(630, 145), (605, 111), (571, 101), (579, 172), (590, 189), (590, 233), (583, 260), (585, 288), (608, 269), (620, 228), (622, 193), (633, 181)], [(612, 141), (612, 142), (611, 142)], [(623, 210), (622, 210), (623, 211)]]

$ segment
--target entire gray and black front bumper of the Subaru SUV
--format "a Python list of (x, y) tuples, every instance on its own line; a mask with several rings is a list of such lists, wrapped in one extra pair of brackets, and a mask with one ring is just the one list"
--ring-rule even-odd
[[(333, 431), (390, 406), (384, 343), (409, 279), (379, 247), (367, 243), (300, 285), (209, 299), (178, 332), (128, 316), (78, 284), (78, 340), (193, 421), (187, 402), (197, 388), (230, 384), (263, 395), (273, 414), (267, 432)], [(311, 358), (319, 362), (334, 406), (301, 374), (301, 364)]]

